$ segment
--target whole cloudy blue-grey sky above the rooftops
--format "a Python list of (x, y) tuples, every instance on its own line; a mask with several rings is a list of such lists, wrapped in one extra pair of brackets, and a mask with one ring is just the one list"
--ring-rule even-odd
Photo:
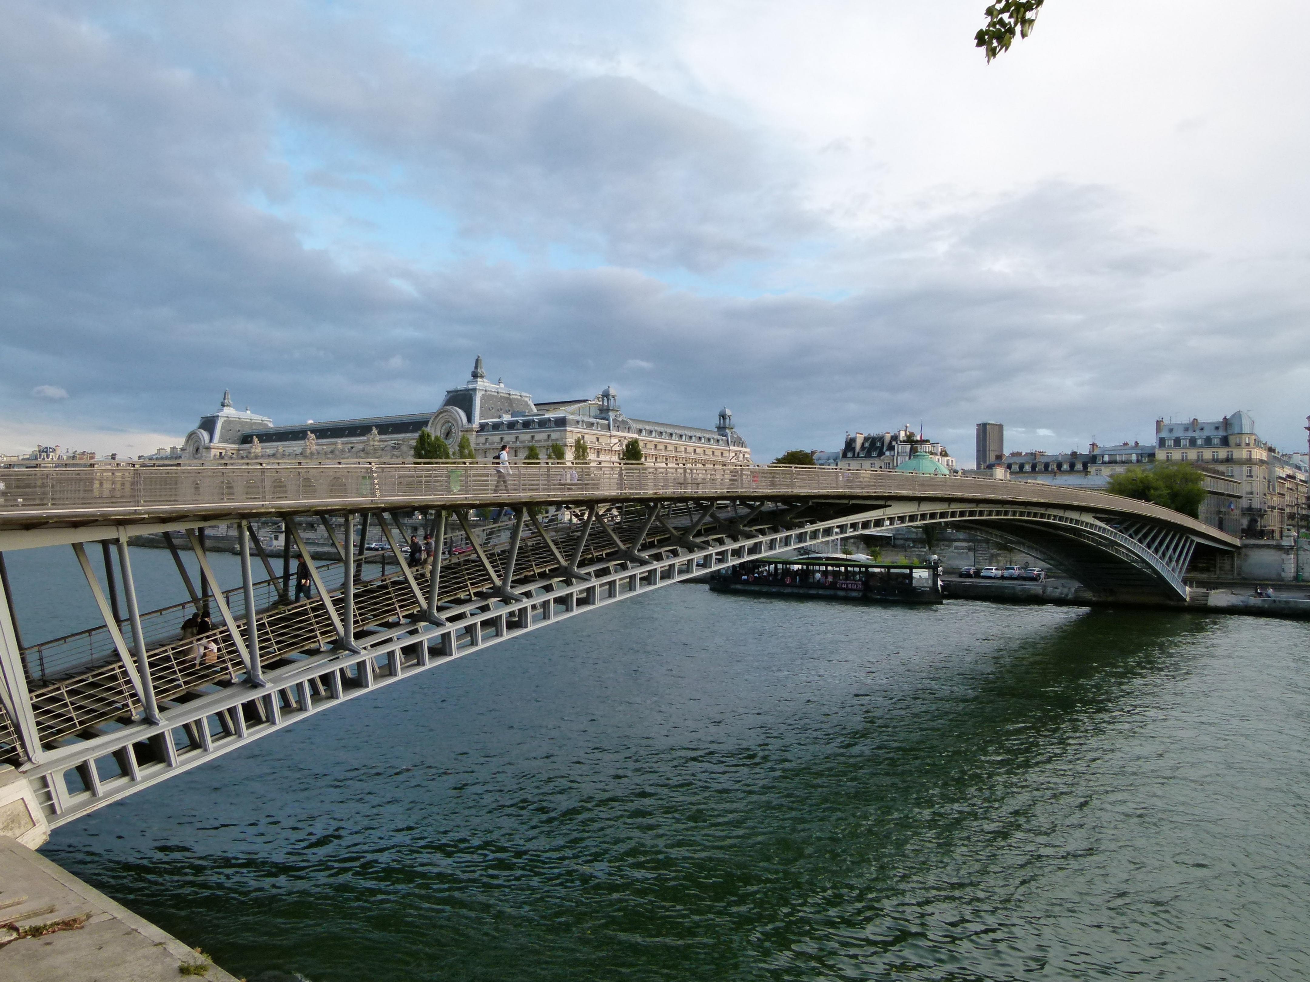
[(1310, 5), (0, 0), (0, 449), (540, 398), (757, 458), (1310, 412)]

